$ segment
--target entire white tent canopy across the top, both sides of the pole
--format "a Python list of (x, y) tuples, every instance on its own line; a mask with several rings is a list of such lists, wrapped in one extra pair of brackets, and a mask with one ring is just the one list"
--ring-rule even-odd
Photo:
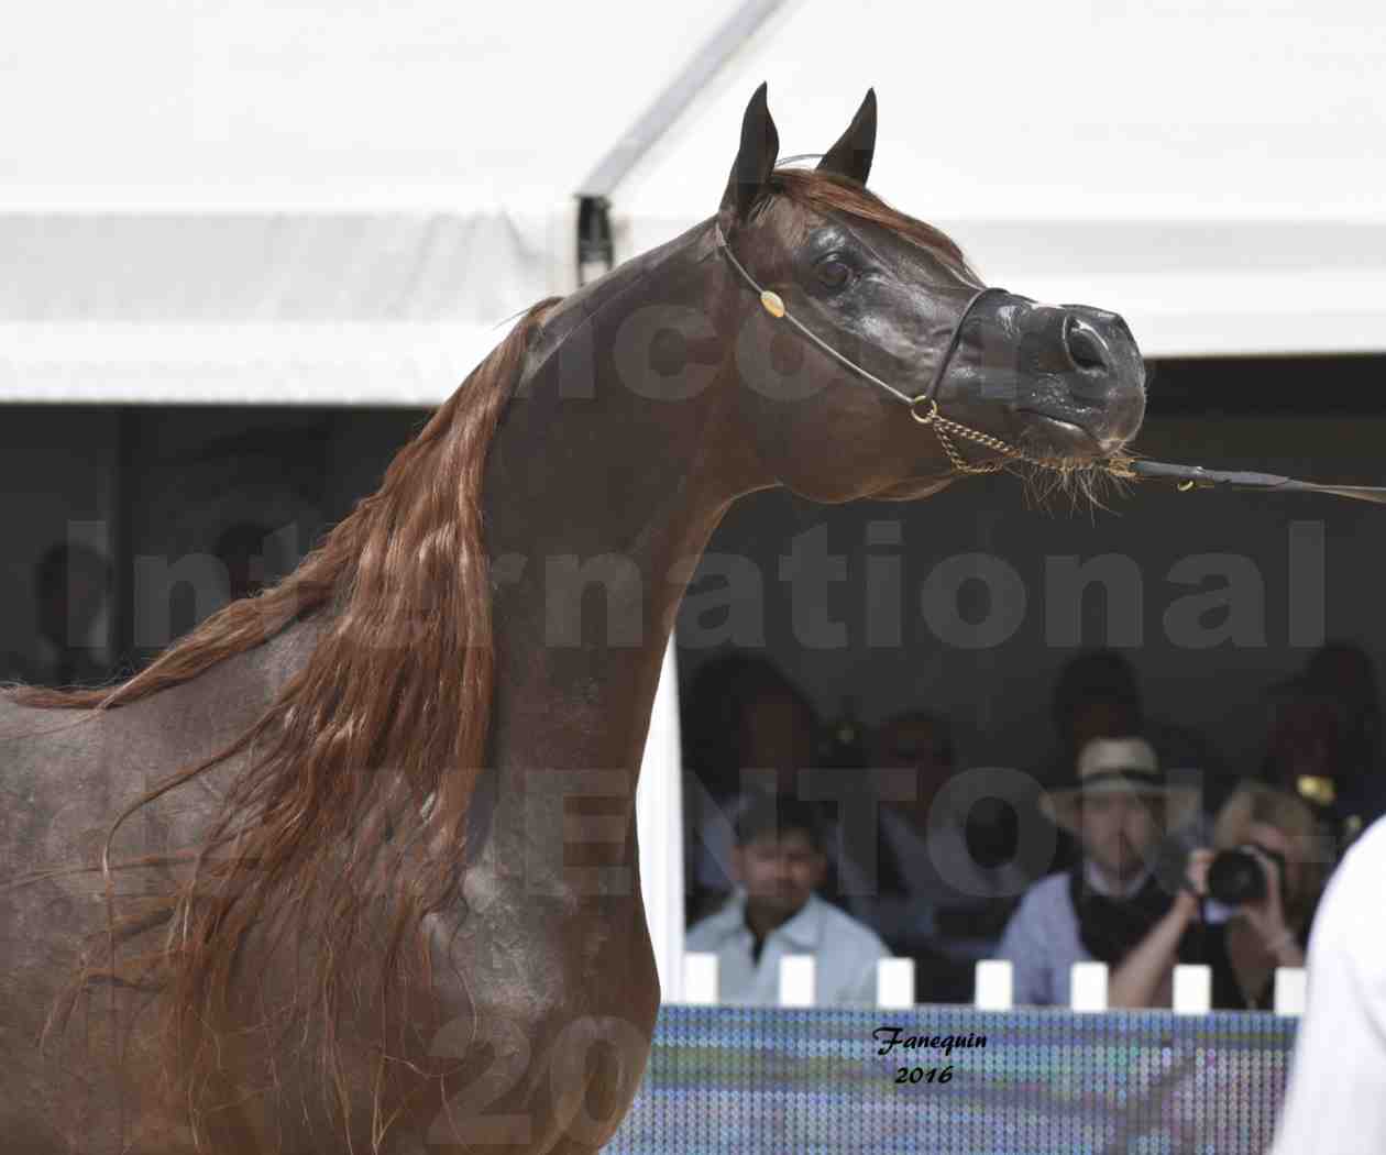
[(875, 86), (872, 186), (991, 283), (1149, 355), (1386, 348), (1386, 25), (1354, 0), (55, 0), (7, 33), (0, 399), (437, 402), (574, 287), (575, 193), (700, 50), (602, 190), (621, 258), (715, 209), (761, 80), (786, 155)]

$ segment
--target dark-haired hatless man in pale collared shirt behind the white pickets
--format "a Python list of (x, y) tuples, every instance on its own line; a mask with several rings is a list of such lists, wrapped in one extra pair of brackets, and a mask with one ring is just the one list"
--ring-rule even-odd
[(827, 869), (816, 807), (751, 794), (736, 821), (737, 887), (689, 930), (686, 950), (718, 957), (722, 1002), (776, 1005), (779, 964), (809, 954), (818, 1005), (876, 1002), (876, 962), (890, 950), (876, 935), (814, 892)]

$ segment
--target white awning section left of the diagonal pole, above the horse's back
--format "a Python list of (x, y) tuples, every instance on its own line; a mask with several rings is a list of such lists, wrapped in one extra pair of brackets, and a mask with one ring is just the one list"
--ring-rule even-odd
[(0, 49), (0, 401), (430, 405), (736, 0), (54, 0)]

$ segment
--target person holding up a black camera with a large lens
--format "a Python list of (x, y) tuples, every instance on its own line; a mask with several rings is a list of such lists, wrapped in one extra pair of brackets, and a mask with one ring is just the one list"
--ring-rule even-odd
[(1275, 969), (1304, 965), (1332, 860), (1313, 810), (1247, 782), (1218, 813), (1213, 843), (1216, 850), (1189, 854), (1170, 910), (1112, 973), (1110, 1007), (1167, 1005), (1174, 965), (1202, 962), (1211, 969), (1214, 1009), (1270, 1011)]

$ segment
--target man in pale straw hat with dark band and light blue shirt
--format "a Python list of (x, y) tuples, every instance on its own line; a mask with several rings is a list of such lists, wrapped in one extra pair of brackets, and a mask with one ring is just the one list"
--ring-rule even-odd
[(1095, 738), (1073, 782), (1041, 807), (1078, 839), (1082, 858), (1026, 892), (999, 957), (1012, 964), (1017, 1005), (1067, 1007), (1074, 962), (1116, 969), (1168, 912), (1174, 896), (1153, 871), (1156, 850), (1198, 818), (1199, 796), (1167, 781), (1143, 738)]

